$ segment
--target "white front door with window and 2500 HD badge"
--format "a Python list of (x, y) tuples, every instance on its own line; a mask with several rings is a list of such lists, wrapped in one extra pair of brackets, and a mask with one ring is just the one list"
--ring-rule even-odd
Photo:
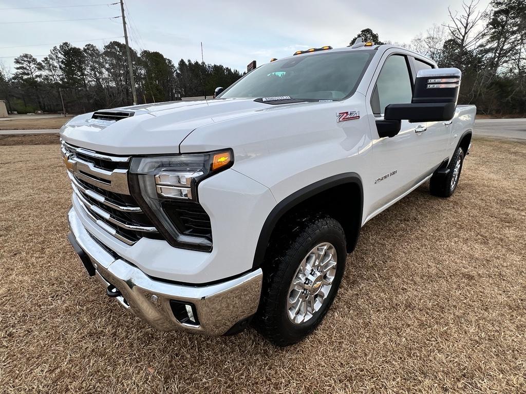
[(373, 176), (367, 180), (371, 204), (365, 207), (370, 217), (418, 184), (430, 167), (421, 138), (425, 122), (402, 120), (400, 132), (392, 138), (380, 138), (376, 129), (375, 122), (383, 119), (387, 105), (411, 102), (414, 82), (410, 61), (394, 49), (386, 51), (366, 95), (373, 138)]

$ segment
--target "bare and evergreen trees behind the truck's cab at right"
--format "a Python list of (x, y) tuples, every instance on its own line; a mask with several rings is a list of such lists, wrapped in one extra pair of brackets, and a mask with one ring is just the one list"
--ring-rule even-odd
[[(486, 115), (526, 115), (526, 2), (492, 0), (482, 9), (467, 0), (408, 44), (396, 44), (462, 71), (460, 104)], [(357, 37), (380, 43), (371, 29)]]

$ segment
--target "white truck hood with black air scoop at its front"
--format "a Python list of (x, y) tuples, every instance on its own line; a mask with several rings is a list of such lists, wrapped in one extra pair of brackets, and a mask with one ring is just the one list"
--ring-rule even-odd
[(179, 153), (181, 141), (200, 126), (272, 107), (283, 106), (269, 106), (252, 99), (218, 99), (121, 107), (118, 109), (134, 115), (109, 125), (93, 123), (94, 112), (79, 115), (60, 129), (60, 138), (75, 146), (105, 153)]

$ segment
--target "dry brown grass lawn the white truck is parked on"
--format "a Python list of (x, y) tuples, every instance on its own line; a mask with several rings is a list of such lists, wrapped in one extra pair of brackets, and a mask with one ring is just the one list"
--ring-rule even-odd
[(66, 241), (58, 146), (0, 147), (0, 391), (526, 391), (526, 144), (475, 142), (452, 198), (422, 186), (366, 224), (325, 321), (286, 349), (125, 313)]

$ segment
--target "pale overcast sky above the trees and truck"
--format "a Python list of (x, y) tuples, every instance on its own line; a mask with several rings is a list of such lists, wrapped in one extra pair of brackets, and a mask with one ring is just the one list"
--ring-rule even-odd
[[(123, 36), (120, 18), (18, 23), (120, 16), (119, 5), (6, 8), (115, 1), (0, 0), (0, 62), (14, 72), (13, 57), (22, 53), (47, 55), (50, 48), (64, 41), (79, 47), (87, 42), (101, 47), (111, 37)], [(202, 41), (206, 63), (239, 70), (244, 70), (251, 60), (260, 65), (298, 49), (346, 46), (367, 27), (378, 33), (381, 40), (408, 43), (433, 23), (447, 22), (448, 5), (456, 10), (461, 3), (462, 0), (125, 0), (130, 15), (130, 45), (136, 50), (157, 50), (175, 63), (181, 58), (200, 60)], [(488, 3), (489, 0), (481, 0), (480, 9)], [(106, 39), (95, 40), (99, 38)], [(124, 38), (114, 39), (124, 42)], [(52, 45), (28, 46), (36, 44)]]

